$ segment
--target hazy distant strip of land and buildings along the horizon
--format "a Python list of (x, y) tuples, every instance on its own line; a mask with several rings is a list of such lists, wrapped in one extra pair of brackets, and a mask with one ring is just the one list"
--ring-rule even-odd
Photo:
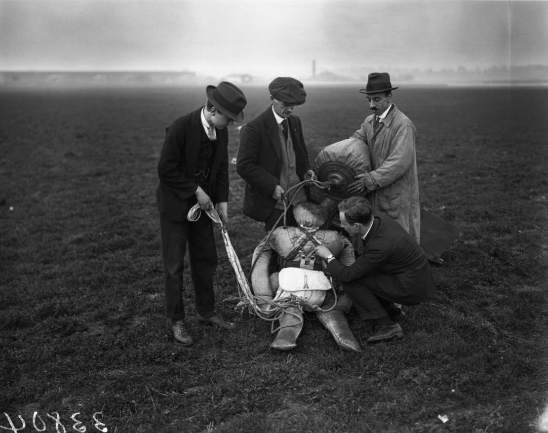
[[(392, 82), (406, 86), (433, 87), (523, 87), (548, 86), (548, 65), (493, 67), (488, 70), (413, 70), (391, 69)], [(165, 87), (202, 86), (213, 81), (231, 81), (247, 86), (263, 86), (273, 76), (252, 73), (212, 75), (190, 70), (0, 70), (0, 87)], [(322, 71), (302, 74), (307, 86), (362, 85), (367, 76)], [(209, 83), (210, 84), (210, 83)]]

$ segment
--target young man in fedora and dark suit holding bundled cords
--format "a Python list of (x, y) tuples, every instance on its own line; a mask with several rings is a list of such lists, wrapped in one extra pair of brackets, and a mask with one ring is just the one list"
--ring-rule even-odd
[(202, 212), (187, 220), (196, 203), (207, 210), (215, 206), (223, 225), (228, 223), (229, 169), (226, 127), (243, 120), (247, 104), (242, 90), (229, 82), (207, 86), (206, 106), (176, 119), (165, 132), (158, 162), (156, 201), (160, 213), (164, 259), (165, 313), (177, 343), (191, 345), (185, 328), (182, 276), (188, 244), (190, 269), (199, 323), (233, 329), (215, 313), (213, 274), (217, 253), (213, 222)]

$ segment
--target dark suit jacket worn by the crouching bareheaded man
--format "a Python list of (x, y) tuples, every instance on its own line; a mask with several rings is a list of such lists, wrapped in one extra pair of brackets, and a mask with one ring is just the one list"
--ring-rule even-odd
[(386, 216), (375, 216), (364, 241), (363, 254), (354, 264), (345, 266), (335, 259), (326, 270), (343, 283), (378, 274), (389, 275), (392, 278), (383, 281), (393, 281), (396, 287), (383, 289), (402, 298), (407, 305), (418, 304), (435, 289), (424, 250), (396, 221)]

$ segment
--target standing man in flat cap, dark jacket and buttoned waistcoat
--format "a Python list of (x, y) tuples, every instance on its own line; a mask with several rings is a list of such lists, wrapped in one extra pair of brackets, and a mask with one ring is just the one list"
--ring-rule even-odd
[[(306, 201), (305, 189), (286, 191), (315, 178), (301, 121), (292, 115), (296, 105), (305, 103), (304, 86), (295, 78), (278, 77), (269, 84), (269, 92), (271, 106), (240, 131), (236, 164), (246, 181), (243, 213), (264, 221), (267, 232), (283, 225), (283, 200), (293, 205)], [(296, 225), (292, 212), (286, 218), (288, 225)]]

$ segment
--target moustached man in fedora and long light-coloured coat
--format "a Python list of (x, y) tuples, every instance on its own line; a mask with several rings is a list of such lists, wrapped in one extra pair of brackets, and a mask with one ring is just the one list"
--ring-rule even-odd
[(367, 197), (376, 214), (396, 220), (415, 240), (420, 241), (419, 179), (416, 170), (413, 122), (392, 103), (392, 87), (387, 72), (370, 73), (364, 93), (373, 114), (353, 135), (367, 143), (372, 171), (356, 176), (349, 185), (355, 195)]

